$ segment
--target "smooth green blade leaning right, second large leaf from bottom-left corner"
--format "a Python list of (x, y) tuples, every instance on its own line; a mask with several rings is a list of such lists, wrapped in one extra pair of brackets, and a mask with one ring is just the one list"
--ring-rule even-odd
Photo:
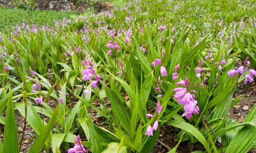
[(53, 115), (51, 116), (48, 124), (43, 128), (41, 134), (37, 137), (37, 139), (31, 146), (31, 149), (29, 151), (30, 153), (38, 153), (41, 150), (41, 148), (43, 147), (43, 144), (45, 143), (45, 141), (47, 140), (47, 138), (49, 137), (49, 135), (51, 133), (51, 129), (53, 128), (53, 125), (55, 124), (57, 116), (58, 116), (58, 105), (56, 106), (55, 111), (54, 111)]

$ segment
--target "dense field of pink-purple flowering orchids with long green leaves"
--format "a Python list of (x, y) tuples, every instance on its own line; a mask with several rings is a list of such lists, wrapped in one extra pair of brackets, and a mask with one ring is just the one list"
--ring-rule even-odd
[[(19, 152), (29, 124), (30, 153), (149, 153), (165, 125), (178, 131), (169, 153), (181, 142), (194, 153), (248, 152), (256, 106), (243, 122), (227, 116), (238, 86), (256, 77), (254, 7), (136, 0), (1, 33), (0, 151)], [(15, 111), (24, 117), (20, 141)]]

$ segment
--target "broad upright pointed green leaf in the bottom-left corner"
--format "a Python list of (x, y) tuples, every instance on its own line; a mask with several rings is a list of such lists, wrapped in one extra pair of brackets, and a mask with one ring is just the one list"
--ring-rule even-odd
[(3, 153), (18, 153), (18, 137), (12, 101), (12, 90), (9, 86), (9, 99), (5, 120), (5, 133), (3, 139)]

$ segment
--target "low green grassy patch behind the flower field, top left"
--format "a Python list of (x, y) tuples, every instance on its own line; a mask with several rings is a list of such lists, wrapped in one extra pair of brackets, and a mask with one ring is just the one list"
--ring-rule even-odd
[(32, 11), (31, 16), (26, 13), (25, 10), (17, 8), (7, 8), (0, 6), (0, 31), (7, 33), (12, 29), (13, 25), (21, 24), (23, 22), (37, 25), (49, 25), (53, 26), (53, 20), (61, 20), (64, 17), (71, 18), (77, 15), (75, 11), (50, 11), (50, 10), (35, 10)]

